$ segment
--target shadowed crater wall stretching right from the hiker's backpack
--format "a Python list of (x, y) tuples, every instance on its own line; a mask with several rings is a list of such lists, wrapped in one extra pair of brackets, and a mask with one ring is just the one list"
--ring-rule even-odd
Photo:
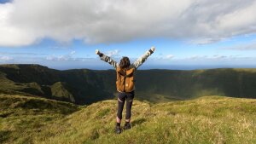
[(138, 71), (137, 79), (138, 91), (147, 92), (143, 98), (150, 93), (177, 99), (203, 95), (256, 98), (256, 69), (146, 70)]

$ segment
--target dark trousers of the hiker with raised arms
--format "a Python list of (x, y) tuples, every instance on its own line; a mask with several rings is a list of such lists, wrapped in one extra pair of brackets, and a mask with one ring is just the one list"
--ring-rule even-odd
[(132, 91), (130, 93), (120, 93), (119, 92), (119, 96), (118, 96), (118, 112), (117, 112), (117, 117), (119, 119), (122, 119), (122, 112), (123, 112), (123, 109), (124, 109), (125, 100), (126, 100), (126, 115), (125, 115), (125, 119), (130, 119), (131, 118), (131, 105), (132, 105), (133, 98), (134, 98), (134, 91)]

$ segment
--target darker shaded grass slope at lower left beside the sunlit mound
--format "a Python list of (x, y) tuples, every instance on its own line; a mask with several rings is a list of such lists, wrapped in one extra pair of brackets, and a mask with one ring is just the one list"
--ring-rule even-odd
[(78, 110), (67, 102), (0, 95), (0, 143), (33, 143), (33, 134)]

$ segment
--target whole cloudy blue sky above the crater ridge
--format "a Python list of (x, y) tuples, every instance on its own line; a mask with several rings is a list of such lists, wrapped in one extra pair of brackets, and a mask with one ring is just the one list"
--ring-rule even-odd
[(112, 69), (256, 67), (256, 0), (0, 0), (0, 64)]

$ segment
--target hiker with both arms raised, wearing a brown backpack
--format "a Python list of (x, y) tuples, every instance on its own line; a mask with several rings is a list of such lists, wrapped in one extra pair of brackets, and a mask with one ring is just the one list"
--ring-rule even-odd
[(116, 62), (108, 55), (102, 54), (98, 49), (96, 49), (96, 55), (99, 55), (101, 60), (108, 62), (116, 70), (116, 88), (119, 92), (118, 95), (118, 112), (116, 117), (116, 127), (115, 132), (117, 134), (121, 133), (121, 119), (122, 112), (126, 101), (126, 115), (125, 115), (125, 126), (124, 130), (131, 129), (131, 105), (134, 98), (135, 91), (135, 71), (139, 66), (148, 59), (149, 55), (154, 53), (154, 47), (151, 47), (144, 55), (138, 58), (132, 64), (128, 57), (124, 56), (120, 62)]

